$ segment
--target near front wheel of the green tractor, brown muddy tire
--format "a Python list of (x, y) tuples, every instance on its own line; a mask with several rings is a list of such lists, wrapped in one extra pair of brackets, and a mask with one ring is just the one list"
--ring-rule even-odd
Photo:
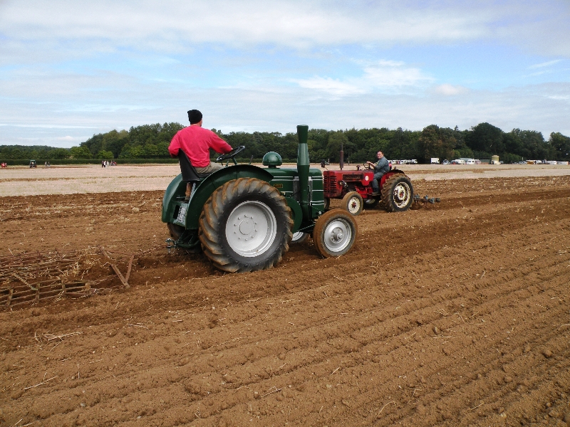
[(344, 255), (356, 239), (356, 221), (343, 209), (332, 209), (318, 217), (313, 229), (315, 248), (324, 258)]

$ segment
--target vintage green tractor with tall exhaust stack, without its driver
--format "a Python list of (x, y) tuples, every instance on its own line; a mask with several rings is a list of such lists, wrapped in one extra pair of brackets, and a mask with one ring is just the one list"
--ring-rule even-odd
[(199, 176), (180, 150), (182, 174), (172, 179), (162, 200), (168, 247), (203, 252), (229, 273), (271, 268), (290, 243), (309, 235), (325, 258), (347, 253), (356, 239), (356, 222), (347, 211), (325, 209), (323, 174), (309, 167), (308, 132), (308, 126), (297, 126), (296, 168), (281, 168), (275, 152), (265, 154), (266, 168), (237, 164), (242, 146), (217, 158), (227, 164), (232, 159), (232, 166)]

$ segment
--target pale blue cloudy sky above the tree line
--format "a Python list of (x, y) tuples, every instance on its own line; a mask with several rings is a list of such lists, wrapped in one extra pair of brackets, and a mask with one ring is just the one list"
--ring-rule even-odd
[(0, 145), (187, 125), (570, 136), (570, 0), (0, 0)]

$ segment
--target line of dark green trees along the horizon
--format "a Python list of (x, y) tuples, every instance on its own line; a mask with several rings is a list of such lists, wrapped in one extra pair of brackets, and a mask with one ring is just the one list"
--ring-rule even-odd
[[(70, 149), (46, 146), (0, 146), (0, 159), (167, 159), (168, 145), (180, 123), (142, 125), (130, 130), (112, 130), (93, 135), (78, 147)], [(247, 147), (242, 159), (259, 161), (266, 152), (281, 154), (284, 161), (294, 162), (299, 139), (295, 132), (229, 132), (212, 129), (232, 147)], [(309, 130), (311, 162), (326, 159), (338, 162), (341, 147), (345, 161), (351, 163), (375, 159), (378, 151), (388, 159), (418, 159), (429, 162), (431, 157), (456, 159), (471, 157), (489, 159), (498, 155), (505, 163), (526, 159), (570, 160), (570, 137), (552, 132), (544, 139), (541, 132), (513, 129), (504, 132), (489, 123), (480, 123), (469, 130), (430, 125), (421, 131), (389, 130), (385, 127), (349, 130)], [(212, 153), (212, 157), (215, 154)]]

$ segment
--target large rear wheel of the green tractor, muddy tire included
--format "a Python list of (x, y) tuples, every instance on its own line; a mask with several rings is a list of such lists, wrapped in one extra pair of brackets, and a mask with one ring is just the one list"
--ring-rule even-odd
[(261, 179), (239, 178), (216, 189), (204, 204), (199, 239), (219, 270), (265, 270), (289, 250), (293, 224), (279, 190)]

